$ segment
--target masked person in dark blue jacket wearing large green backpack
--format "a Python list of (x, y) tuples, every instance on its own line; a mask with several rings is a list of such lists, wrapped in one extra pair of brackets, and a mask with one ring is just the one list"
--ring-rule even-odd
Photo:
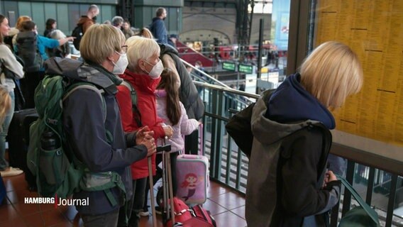
[[(118, 211), (123, 205), (127, 207), (126, 198), (132, 195), (131, 173), (128, 166), (153, 155), (156, 151), (153, 132), (149, 131), (148, 127), (138, 128), (137, 133), (134, 129), (124, 133), (122, 128), (121, 114), (116, 102), (117, 86), (121, 84), (122, 79), (116, 74), (123, 73), (128, 65), (125, 40), (123, 33), (113, 26), (104, 24), (92, 26), (82, 38), (81, 54), (84, 62), (51, 58), (45, 62), (49, 75), (44, 79), (47, 86), (41, 86), (35, 93), (37, 102), (42, 104), (55, 96), (50, 93), (39, 95), (46, 89), (53, 91), (49, 88), (53, 79), (57, 83), (63, 81), (63, 84), (66, 82), (71, 84), (62, 96), (62, 131), (57, 131), (55, 127), (59, 121), (48, 119), (43, 121), (43, 114), (46, 116), (51, 114), (50, 110), (44, 111), (46, 106), (37, 106), (37, 109), (42, 119), (39, 122), (51, 129), (50, 133), (44, 131), (42, 137), (50, 138), (52, 131), (65, 135), (61, 148), (68, 148), (67, 150), (77, 158), (77, 160), (73, 158), (74, 166), (83, 166), (81, 170), (84, 169), (84, 175), (80, 177), (79, 188), (74, 189), (73, 198), (89, 201), (88, 204), (75, 204), (84, 226), (87, 227), (117, 225)], [(102, 48), (99, 48), (99, 43), (102, 43)], [(57, 79), (60, 78), (58, 75), (62, 75), (62, 79)], [(56, 89), (57, 87), (53, 88), (55, 92), (60, 90)], [(57, 106), (60, 99), (54, 103)], [(35, 128), (40, 129), (38, 126), (34, 123), (31, 131)], [(33, 133), (31, 138), (38, 136), (35, 134)], [(37, 144), (41, 150), (54, 150), (60, 147), (60, 143), (55, 142), (55, 139), (41, 139)], [(46, 149), (43, 145), (53, 145), (53, 148)], [(28, 160), (35, 160), (30, 152), (31, 148)], [(55, 171), (41, 172), (47, 175)], [(42, 174), (39, 174), (40, 177)], [(50, 179), (52, 177), (49, 181)], [(101, 179), (101, 182), (98, 179)], [(113, 186), (107, 189), (98, 186), (104, 179), (108, 179)], [(44, 192), (41, 187), (46, 185), (41, 182), (38, 191)]]

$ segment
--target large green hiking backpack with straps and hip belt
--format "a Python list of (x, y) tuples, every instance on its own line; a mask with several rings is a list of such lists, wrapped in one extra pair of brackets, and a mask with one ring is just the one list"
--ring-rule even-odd
[[(62, 100), (77, 89), (92, 89), (99, 94), (104, 107), (105, 121), (106, 103), (101, 94), (103, 90), (89, 82), (70, 81), (71, 79), (60, 75), (47, 75), (35, 89), (35, 106), (39, 118), (30, 128), (28, 168), (36, 177), (38, 193), (41, 196), (67, 198), (81, 190), (104, 191), (111, 205), (116, 206), (118, 202), (111, 189), (118, 187), (123, 195), (126, 195), (121, 176), (116, 172), (89, 172), (88, 168), (74, 156), (62, 128)], [(111, 143), (112, 137), (108, 131), (106, 138)], [(53, 145), (53, 148), (43, 149), (43, 145), (46, 144)]]

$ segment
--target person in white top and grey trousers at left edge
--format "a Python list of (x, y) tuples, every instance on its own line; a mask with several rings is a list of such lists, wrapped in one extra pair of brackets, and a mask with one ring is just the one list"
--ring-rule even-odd
[[(9, 162), (6, 161), (6, 136), (9, 131), (9, 126), (14, 113), (14, 88), (16, 87), (15, 79), (23, 78), (23, 67), (16, 60), (16, 57), (11, 52), (10, 48), (4, 44), (3, 38), (9, 35), (10, 27), (9, 20), (0, 14), (0, 84), (3, 87), (3, 92), (6, 90), (9, 94), (11, 108), (6, 113), (1, 113), (0, 124), (0, 174), (3, 177), (20, 175), (22, 170), (9, 167)], [(6, 70), (13, 72), (14, 77), (9, 77)], [(4, 95), (1, 99), (6, 99)], [(6, 100), (4, 100), (6, 101)]]

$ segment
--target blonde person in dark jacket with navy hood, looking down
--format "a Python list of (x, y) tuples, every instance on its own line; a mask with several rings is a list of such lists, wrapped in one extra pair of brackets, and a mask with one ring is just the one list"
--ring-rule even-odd
[(362, 85), (358, 56), (347, 45), (329, 41), (305, 58), (299, 72), (258, 99), (249, 127), (248, 226), (329, 226), (328, 211), (341, 193), (333, 163), (329, 170), (326, 165), (330, 130), (336, 127), (330, 110)]

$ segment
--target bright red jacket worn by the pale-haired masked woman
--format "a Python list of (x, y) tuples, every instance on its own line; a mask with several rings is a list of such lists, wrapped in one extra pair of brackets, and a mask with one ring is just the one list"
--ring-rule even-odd
[[(157, 116), (157, 106), (155, 104), (155, 88), (157, 87), (160, 79), (151, 79), (147, 74), (136, 74), (128, 70), (120, 76), (126, 79), (137, 92), (137, 106), (141, 115), (141, 123), (143, 126), (148, 126), (151, 131), (154, 131), (154, 139), (164, 138), (165, 132), (161, 126), (163, 121)], [(121, 118), (123, 130), (125, 132), (136, 131), (140, 128), (135, 118), (133, 118), (133, 111), (131, 108), (131, 95), (127, 87), (123, 85), (118, 86), (118, 100), (119, 108), (121, 109)], [(133, 179), (141, 179), (148, 177), (148, 161), (147, 157), (144, 159), (133, 162), (131, 165), (131, 175)], [(155, 155), (153, 155), (153, 175), (155, 175)]]

